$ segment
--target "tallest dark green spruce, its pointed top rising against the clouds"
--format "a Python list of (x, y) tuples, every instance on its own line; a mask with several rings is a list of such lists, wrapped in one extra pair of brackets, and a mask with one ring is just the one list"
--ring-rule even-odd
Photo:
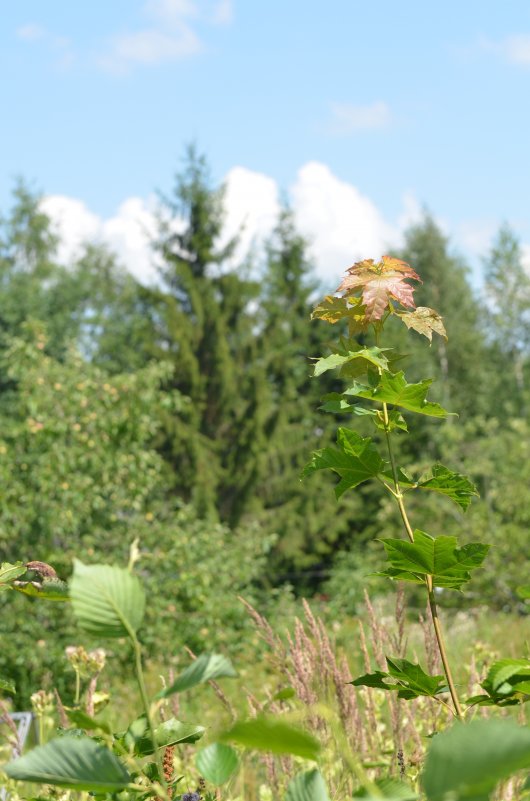
[(200, 514), (235, 524), (259, 478), (265, 398), (250, 307), (258, 284), (228, 269), (237, 241), (220, 246), (223, 223), (223, 188), (190, 147), (156, 242), (163, 288), (152, 294), (155, 342), (173, 362), (171, 385), (189, 399), (184, 419), (167, 416), (161, 447), (175, 490)]

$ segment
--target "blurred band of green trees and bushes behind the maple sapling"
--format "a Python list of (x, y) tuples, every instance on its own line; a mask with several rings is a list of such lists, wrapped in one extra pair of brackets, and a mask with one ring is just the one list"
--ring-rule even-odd
[[(62, 264), (52, 222), (22, 182), (0, 223), (0, 561), (39, 559), (66, 578), (74, 554), (123, 564), (138, 538), (155, 662), (169, 642), (173, 652), (242, 649), (249, 621), (238, 595), (273, 618), (300, 596), (330, 619), (355, 615), (374, 536), (397, 523), (370, 487), (338, 510), (333, 480), (300, 482), (337, 422), (319, 399), (340, 386), (329, 373), (311, 379), (330, 334), (310, 322), (322, 289), (310, 245), (285, 207), (262, 254), (234, 267), (237, 239), (219, 245), (224, 211), (223, 187), (190, 147), (160, 200), (150, 286), (101, 245)], [(422, 277), (416, 301), (440, 311), (449, 339), (411, 345), (396, 328), (388, 344), (410, 360), (409, 380), (437, 379), (433, 400), (459, 413), (416, 426), (407, 464), (449, 463), (481, 494), (464, 519), (422, 500), (416, 525), (452, 534), (464, 520), (466, 541), (490, 542), (467, 603), (474, 593), (517, 613), (527, 577), (512, 555), (530, 549), (530, 277), (520, 244), (500, 228), (480, 292), (428, 213), (392, 255)], [(64, 608), (28, 614), (31, 601), (12, 595), (0, 596), (3, 629), (16, 631), (0, 673), (24, 705), (51, 682), (73, 634)]]

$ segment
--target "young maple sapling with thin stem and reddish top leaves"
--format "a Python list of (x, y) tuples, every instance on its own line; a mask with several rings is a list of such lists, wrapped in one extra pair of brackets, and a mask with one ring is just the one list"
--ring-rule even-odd
[[(340, 478), (335, 488), (337, 498), (347, 490), (370, 479), (378, 481), (395, 499), (406, 539), (386, 539), (383, 545), (387, 567), (380, 572), (396, 581), (409, 581), (425, 586), (432, 622), (445, 676), (429, 676), (420, 665), (407, 660), (387, 657), (388, 672), (377, 672), (356, 679), (357, 685), (368, 685), (397, 691), (400, 697), (429, 696), (445, 704), (447, 690), (451, 695), (454, 713), (463, 717), (451, 667), (447, 658), (444, 636), (436, 604), (437, 590), (461, 590), (479, 567), (489, 549), (483, 543), (458, 546), (456, 537), (431, 536), (414, 530), (409, 520), (406, 497), (410, 492), (436, 492), (445, 495), (462, 511), (478, 495), (468, 478), (442, 464), (434, 464), (426, 475), (412, 477), (396, 465), (392, 436), (408, 431), (404, 413), (446, 418), (450, 413), (440, 404), (427, 399), (432, 379), (408, 383), (403, 371), (395, 371), (399, 357), (394, 349), (384, 347), (382, 336), (385, 322), (397, 316), (408, 329), (432, 341), (433, 333), (446, 338), (441, 316), (426, 306), (415, 307), (414, 284), (419, 275), (406, 262), (383, 256), (379, 262), (365, 259), (346, 272), (337, 289), (340, 297), (327, 296), (313, 312), (314, 319), (331, 324), (346, 320), (348, 337), (341, 336), (332, 353), (317, 359), (314, 375), (337, 368), (348, 379), (342, 392), (323, 398), (324, 411), (351, 413), (371, 419), (386, 445), (382, 455), (371, 437), (339, 427), (337, 448), (327, 447), (313, 453), (302, 476), (317, 470), (332, 470)], [(360, 344), (356, 335), (374, 334), (374, 345)], [(366, 336), (363, 337), (366, 339)], [(370, 405), (365, 405), (369, 401)], [(530, 663), (529, 663), (530, 664)]]

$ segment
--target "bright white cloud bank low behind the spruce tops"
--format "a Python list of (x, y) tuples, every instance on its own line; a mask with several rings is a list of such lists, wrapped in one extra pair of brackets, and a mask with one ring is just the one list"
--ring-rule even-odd
[[(226, 176), (225, 228), (221, 245), (239, 234), (241, 242), (233, 264), (250, 252), (259, 255), (272, 233), (280, 211), (276, 181), (245, 167)], [(401, 244), (402, 231), (421, 212), (412, 194), (403, 197), (403, 210), (389, 222), (370, 198), (318, 162), (305, 164), (291, 187), (290, 202), (300, 232), (308, 239), (311, 259), (327, 291), (340, 274), (361, 258), (379, 258), (390, 246)], [(71, 263), (87, 240), (106, 243), (120, 262), (143, 283), (157, 279), (150, 241), (156, 234), (156, 199), (126, 199), (107, 219), (94, 214), (80, 200), (48, 196), (43, 209), (61, 236), (60, 260)]]

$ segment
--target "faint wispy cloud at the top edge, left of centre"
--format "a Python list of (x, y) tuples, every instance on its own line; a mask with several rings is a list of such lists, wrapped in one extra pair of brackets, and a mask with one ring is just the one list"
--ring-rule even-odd
[(197, 34), (199, 23), (226, 24), (232, 19), (231, 0), (148, 0), (143, 8), (151, 24), (112, 36), (98, 65), (116, 73), (134, 65), (180, 61), (199, 53), (204, 45)]

